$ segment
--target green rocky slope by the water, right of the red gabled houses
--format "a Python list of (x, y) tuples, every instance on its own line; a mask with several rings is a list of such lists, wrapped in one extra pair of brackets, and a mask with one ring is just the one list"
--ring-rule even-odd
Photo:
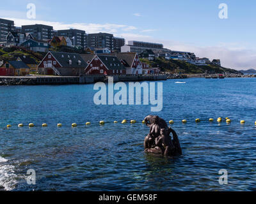
[(209, 73), (236, 73), (241, 74), (241, 72), (235, 69), (223, 68), (221, 66), (209, 64), (205, 66), (196, 66), (194, 64), (190, 64), (188, 62), (179, 61), (179, 60), (166, 60), (164, 58), (157, 58), (154, 61), (148, 61), (148, 59), (140, 59), (141, 62), (145, 62), (152, 67), (159, 67), (161, 71), (168, 71), (172, 73), (191, 73), (191, 74), (204, 74), (205, 71)]

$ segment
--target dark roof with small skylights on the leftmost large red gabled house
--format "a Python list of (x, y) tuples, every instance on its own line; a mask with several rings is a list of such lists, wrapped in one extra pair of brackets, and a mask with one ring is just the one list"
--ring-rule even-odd
[[(87, 63), (82, 59), (79, 54), (68, 53), (68, 52), (53, 52), (50, 51), (52, 56), (61, 64), (64, 68), (86, 68)], [(69, 64), (69, 60), (72, 61), (72, 64)], [(81, 61), (81, 65), (78, 64), (78, 61)]]

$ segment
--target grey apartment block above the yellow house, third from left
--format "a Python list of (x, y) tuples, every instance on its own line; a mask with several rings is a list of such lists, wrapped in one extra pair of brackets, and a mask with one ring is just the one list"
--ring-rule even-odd
[(72, 41), (72, 45), (75, 47), (86, 48), (87, 45), (87, 34), (85, 31), (77, 29), (68, 29), (58, 31), (58, 36), (68, 37)]

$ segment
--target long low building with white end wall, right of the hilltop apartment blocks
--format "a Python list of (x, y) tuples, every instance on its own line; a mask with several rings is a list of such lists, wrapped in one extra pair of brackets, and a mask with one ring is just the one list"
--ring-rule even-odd
[(167, 49), (163, 48), (163, 44), (148, 43), (142, 41), (128, 41), (128, 45), (121, 47), (121, 52), (137, 52), (140, 54), (144, 50), (152, 50), (154, 52), (166, 52)]

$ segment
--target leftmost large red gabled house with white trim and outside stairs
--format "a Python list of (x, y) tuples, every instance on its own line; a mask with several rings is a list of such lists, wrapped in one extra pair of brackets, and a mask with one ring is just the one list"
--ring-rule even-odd
[(38, 73), (79, 77), (87, 66), (79, 54), (49, 51), (38, 65)]

